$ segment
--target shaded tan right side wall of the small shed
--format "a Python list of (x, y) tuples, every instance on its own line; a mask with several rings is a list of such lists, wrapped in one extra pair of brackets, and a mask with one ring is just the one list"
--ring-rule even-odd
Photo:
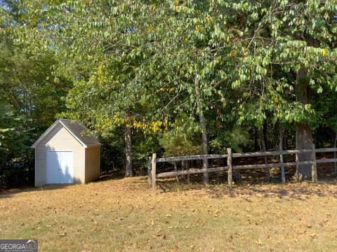
[(100, 177), (100, 146), (86, 148), (86, 183)]

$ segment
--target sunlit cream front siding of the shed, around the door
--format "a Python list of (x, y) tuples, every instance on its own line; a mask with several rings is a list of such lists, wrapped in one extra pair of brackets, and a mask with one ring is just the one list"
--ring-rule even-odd
[(72, 151), (74, 183), (84, 183), (85, 148), (59, 124), (35, 148), (35, 186), (46, 184), (47, 151)]

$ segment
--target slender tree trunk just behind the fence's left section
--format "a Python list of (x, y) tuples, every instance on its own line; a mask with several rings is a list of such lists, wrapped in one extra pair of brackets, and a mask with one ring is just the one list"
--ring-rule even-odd
[[(204, 116), (204, 111), (202, 109), (202, 104), (200, 102), (201, 95), (200, 95), (199, 80), (197, 80), (197, 78), (194, 78), (194, 87), (195, 87), (195, 94), (197, 97), (197, 113), (199, 114), (199, 122), (202, 134), (202, 152), (203, 154), (207, 155), (209, 154), (209, 141), (207, 139), (206, 118)], [(202, 168), (209, 169), (209, 160), (207, 159), (202, 160)], [(209, 172), (204, 172), (204, 183), (209, 183)]]

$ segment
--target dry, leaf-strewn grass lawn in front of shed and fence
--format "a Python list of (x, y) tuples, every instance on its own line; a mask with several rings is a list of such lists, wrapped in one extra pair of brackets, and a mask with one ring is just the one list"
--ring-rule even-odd
[(38, 238), (39, 251), (336, 251), (337, 181), (13, 190), (0, 195), (0, 238)]

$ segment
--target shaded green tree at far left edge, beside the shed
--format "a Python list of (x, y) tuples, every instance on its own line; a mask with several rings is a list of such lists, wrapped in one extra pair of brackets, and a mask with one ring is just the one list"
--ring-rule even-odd
[(62, 97), (69, 87), (67, 81), (52, 73), (55, 57), (46, 50), (24, 50), (18, 43), (17, 32), (25, 22), (22, 1), (1, 1), (0, 186), (22, 186), (27, 176), (31, 179), (34, 153), (29, 146), (64, 109)]

